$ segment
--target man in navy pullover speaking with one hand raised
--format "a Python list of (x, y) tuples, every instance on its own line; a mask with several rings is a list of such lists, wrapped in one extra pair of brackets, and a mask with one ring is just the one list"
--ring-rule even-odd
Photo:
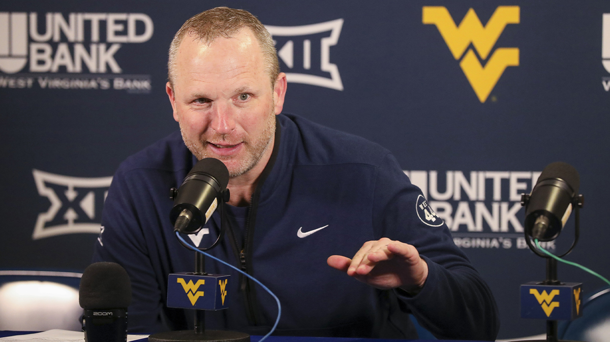
[[(278, 295), (276, 333), (415, 338), (412, 313), (439, 338), (496, 337), (489, 288), (389, 151), (281, 114), (286, 76), (256, 17), (226, 7), (193, 16), (171, 43), (168, 70), (181, 134), (121, 164), (93, 258), (130, 274), (132, 332), (192, 326), (185, 310), (165, 307), (167, 274), (194, 269), (173, 236), (167, 192), (214, 157), (229, 169), (231, 199), (228, 236), (211, 253)], [(209, 246), (219, 223), (215, 213), (210, 233), (191, 240)], [(210, 260), (206, 271), (234, 275), (229, 309), (207, 313), (207, 329), (268, 332), (271, 297)]]

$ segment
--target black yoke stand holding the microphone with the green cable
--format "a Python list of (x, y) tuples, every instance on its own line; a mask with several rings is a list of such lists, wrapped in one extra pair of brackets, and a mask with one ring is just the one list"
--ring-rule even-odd
[[(529, 194), (522, 194), (521, 196), (521, 205), (527, 206), (529, 202)], [(578, 238), (580, 237), (580, 208), (583, 207), (584, 204), (584, 196), (582, 194), (576, 196), (572, 201), (572, 207), (574, 208), (574, 240), (572, 242), (572, 246), (565, 252), (564, 254), (558, 255), (558, 257), (565, 257), (572, 249), (575, 248), (576, 243), (578, 243)], [(547, 259), (547, 279), (542, 282), (542, 285), (561, 285), (562, 283), (557, 279), (557, 260), (549, 255), (546, 255), (540, 252), (536, 246), (531, 241), (531, 237), (528, 235), (527, 230), (525, 230), (525, 241), (528, 244), (529, 249), (533, 251), (539, 257), (543, 257)], [(559, 340), (558, 332), (558, 321), (554, 319), (547, 319), (547, 339), (546, 340), (521, 340), (515, 342), (581, 342), (581, 341), (572, 341), (572, 340)]]

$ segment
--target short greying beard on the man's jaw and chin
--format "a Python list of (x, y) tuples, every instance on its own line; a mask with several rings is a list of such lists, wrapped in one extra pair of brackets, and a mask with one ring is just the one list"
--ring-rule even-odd
[[(272, 106), (271, 108), (274, 109), (275, 106)], [(231, 156), (223, 157), (217, 155), (209, 155), (206, 152), (206, 149), (204, 148), (204, 146), (206, 145), (206, 139), (201, 137), (199, 141), (190, 140), (190, 138), (188, 138), (184, 132), (184, 127), (182, 127), (182, 123), (179, 124), (180, 132), (182, 134), (182, 140), (184, 140), (184, 144), (191, 151), (191, 153), (195, 155), (197, 160), (201, 160), (207, 157), (213, 157), (220, 160), (231, 159)], [(245, 143), (244, 148), (246, 155), (244, 159), (235, 168), (229, 169), (229, 177), (232, 178), (241, 176), (242, 174), (245, 174), (246, 172), (250, 171), (260, 162), (260, 159), (263, 155), (265, 155), (265, 153), (269, 149), (269, 146), (271, 146), (271, 141), (273, 141), (274, 139), (276, 129), (275, 124), (275, 113), (272, 110), (267, 119), (267, 126), (265, 126), (265, 129), (260, 135), (260, 139), (255, 140), (253, 142), (248, 141), (248, 143)], [(224, 138), (224, 135), (221, 136), (221, 140), (224, 140)]]

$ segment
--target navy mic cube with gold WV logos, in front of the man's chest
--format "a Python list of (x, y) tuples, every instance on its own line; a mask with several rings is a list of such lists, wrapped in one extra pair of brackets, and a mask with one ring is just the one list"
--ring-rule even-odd
[(167, 280), (167, 306), (199, 310), (228, 307), (227, 274), (171, 273)]

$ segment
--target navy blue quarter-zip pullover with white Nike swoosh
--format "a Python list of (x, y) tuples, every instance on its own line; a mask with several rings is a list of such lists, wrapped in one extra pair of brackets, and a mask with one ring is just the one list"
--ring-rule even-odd
[[(491, 291), (387, 149), (299, 116), (278, 115), (276, 126), (245, 231), (228, 229), (210, 251), (276, 293), (282, 302), (276, 333), (415, 338), (412, 313), (439, 338), (495, 339), (499, 321)], [(131, 332), (192, 328), (190, 310), (165, 302), (168, 274), (194, 270), (193, 252), (174, 236), (168, 193), (195, 162), (176, 132), (121, 163), (110, 185), (93, 262), (120, 263), (131, 277)], [(212, 233), (203, 235), (201, 246), (212, 243), (218, 224), (214, 213), (206, 224)], [(299, 229), (323, 226), (297, 236)], [(382, 237), (412, 244), (428, 263), (420, 293), (377, 290), (326, 264), (330, 255), (352, 257), (365, 241)], [(213, 260), (206, 260), (206, 271), (233, 279), (229, 308), (207, 312), (206, 329), (268, 332), (277, 314), (271, 296)]]

